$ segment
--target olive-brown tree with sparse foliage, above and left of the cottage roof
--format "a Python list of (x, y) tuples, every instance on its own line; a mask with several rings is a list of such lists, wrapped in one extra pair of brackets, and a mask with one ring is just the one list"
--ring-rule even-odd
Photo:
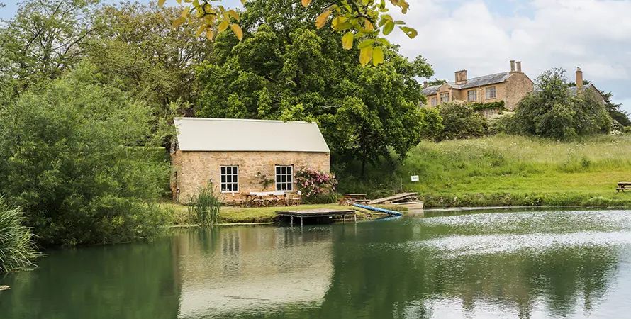
[(171, 28), (179, 9), (122, 2), (104, 6), (94, 25), (87, 56), (99, 73), (120, 79), (157, 116), (172, 111), (192, 115), (199, 89), (196, 67), (212, 60), (212, 41), (194, 37), (195, 30)]

